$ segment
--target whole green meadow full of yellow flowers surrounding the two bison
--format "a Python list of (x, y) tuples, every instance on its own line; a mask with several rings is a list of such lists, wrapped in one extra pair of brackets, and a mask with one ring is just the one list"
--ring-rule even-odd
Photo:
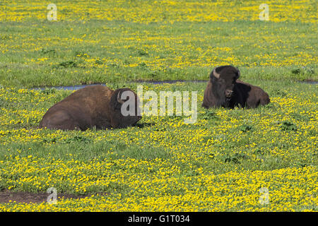
[[(266, 1), (269, 21), (259, 20), (262, 1), (55, 1), (48, 21), (50, 3), (0, 2), (0, 190), (88, 197), (0, 211), (318, 210), (317, 85), (299, 82), (318, 80), (316, 1)], [(198, 91), (197, 122), (37, 128), (71, 91), (30, 88), (136, 90), (141, 80), (207, 80), (225, 64), (271, 103), (206, 110), (206, 83), (142, 83)]]

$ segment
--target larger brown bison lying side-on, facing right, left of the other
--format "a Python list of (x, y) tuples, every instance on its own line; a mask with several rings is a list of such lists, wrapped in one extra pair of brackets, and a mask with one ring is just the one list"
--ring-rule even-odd
[[(124, 91), (135, 97), (134, 101), (131, 100), (136, 106), (132, 108), (135, 109), (134, 116), (122, 115), (121, 107), (129, 100), (129, 97), (121, 99)], [(40, 121), (40, 127), (63, 130), (124, 128), (141, 119), (137, 107), (137, 95), (129, 88), (111, 90), (104, 85), (88, 86), (51, 107)]]

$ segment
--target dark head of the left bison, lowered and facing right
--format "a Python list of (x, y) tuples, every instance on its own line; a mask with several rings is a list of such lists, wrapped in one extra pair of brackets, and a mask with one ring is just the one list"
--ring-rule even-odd
[(129, 88), (120, 88), (114, 90), (111, 97), (114, 114), (117, 115), (114, 120), (114, 127), (126, 127), (136, 124), (141, 119), (138, 115), (139, 99), (137, 94)]

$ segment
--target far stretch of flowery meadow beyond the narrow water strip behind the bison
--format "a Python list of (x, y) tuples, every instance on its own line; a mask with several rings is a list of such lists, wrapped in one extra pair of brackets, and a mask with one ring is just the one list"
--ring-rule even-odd
[(227, 64), (247, 78), (318, 79), (316, 1), (268, 1), (270, 21), (261, 1), (57, 1), (57, 21), (50, 1), (1, 2), (4, 86), (205, 80)]

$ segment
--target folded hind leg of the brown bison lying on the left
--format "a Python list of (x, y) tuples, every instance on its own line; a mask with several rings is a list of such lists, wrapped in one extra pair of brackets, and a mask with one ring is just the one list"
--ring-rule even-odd
[(54, 112), (43, 117), (40, 122), (41, 127), (47, 129), (62, 129), (62, 130), (80, 130), (81, 126), (76, 122), (69, 113), (65, 111)]

